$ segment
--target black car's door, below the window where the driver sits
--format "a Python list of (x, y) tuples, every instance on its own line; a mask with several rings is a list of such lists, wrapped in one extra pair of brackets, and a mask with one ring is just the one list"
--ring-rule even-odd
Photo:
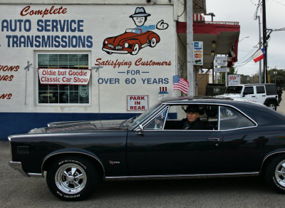
[[(213, 115), (217, 118), (218, 113)], [(166, 122), (170, 120), (171, 113), (165, 118)], [(171, 121), (179, 122), (177, 119)], [(222, 172), (222, 140), (217, 128), (166, 130), (147, 129), (145, 125), (143, 132), (128, 133), (128, 170), (130, 175), (204, 175)]]

